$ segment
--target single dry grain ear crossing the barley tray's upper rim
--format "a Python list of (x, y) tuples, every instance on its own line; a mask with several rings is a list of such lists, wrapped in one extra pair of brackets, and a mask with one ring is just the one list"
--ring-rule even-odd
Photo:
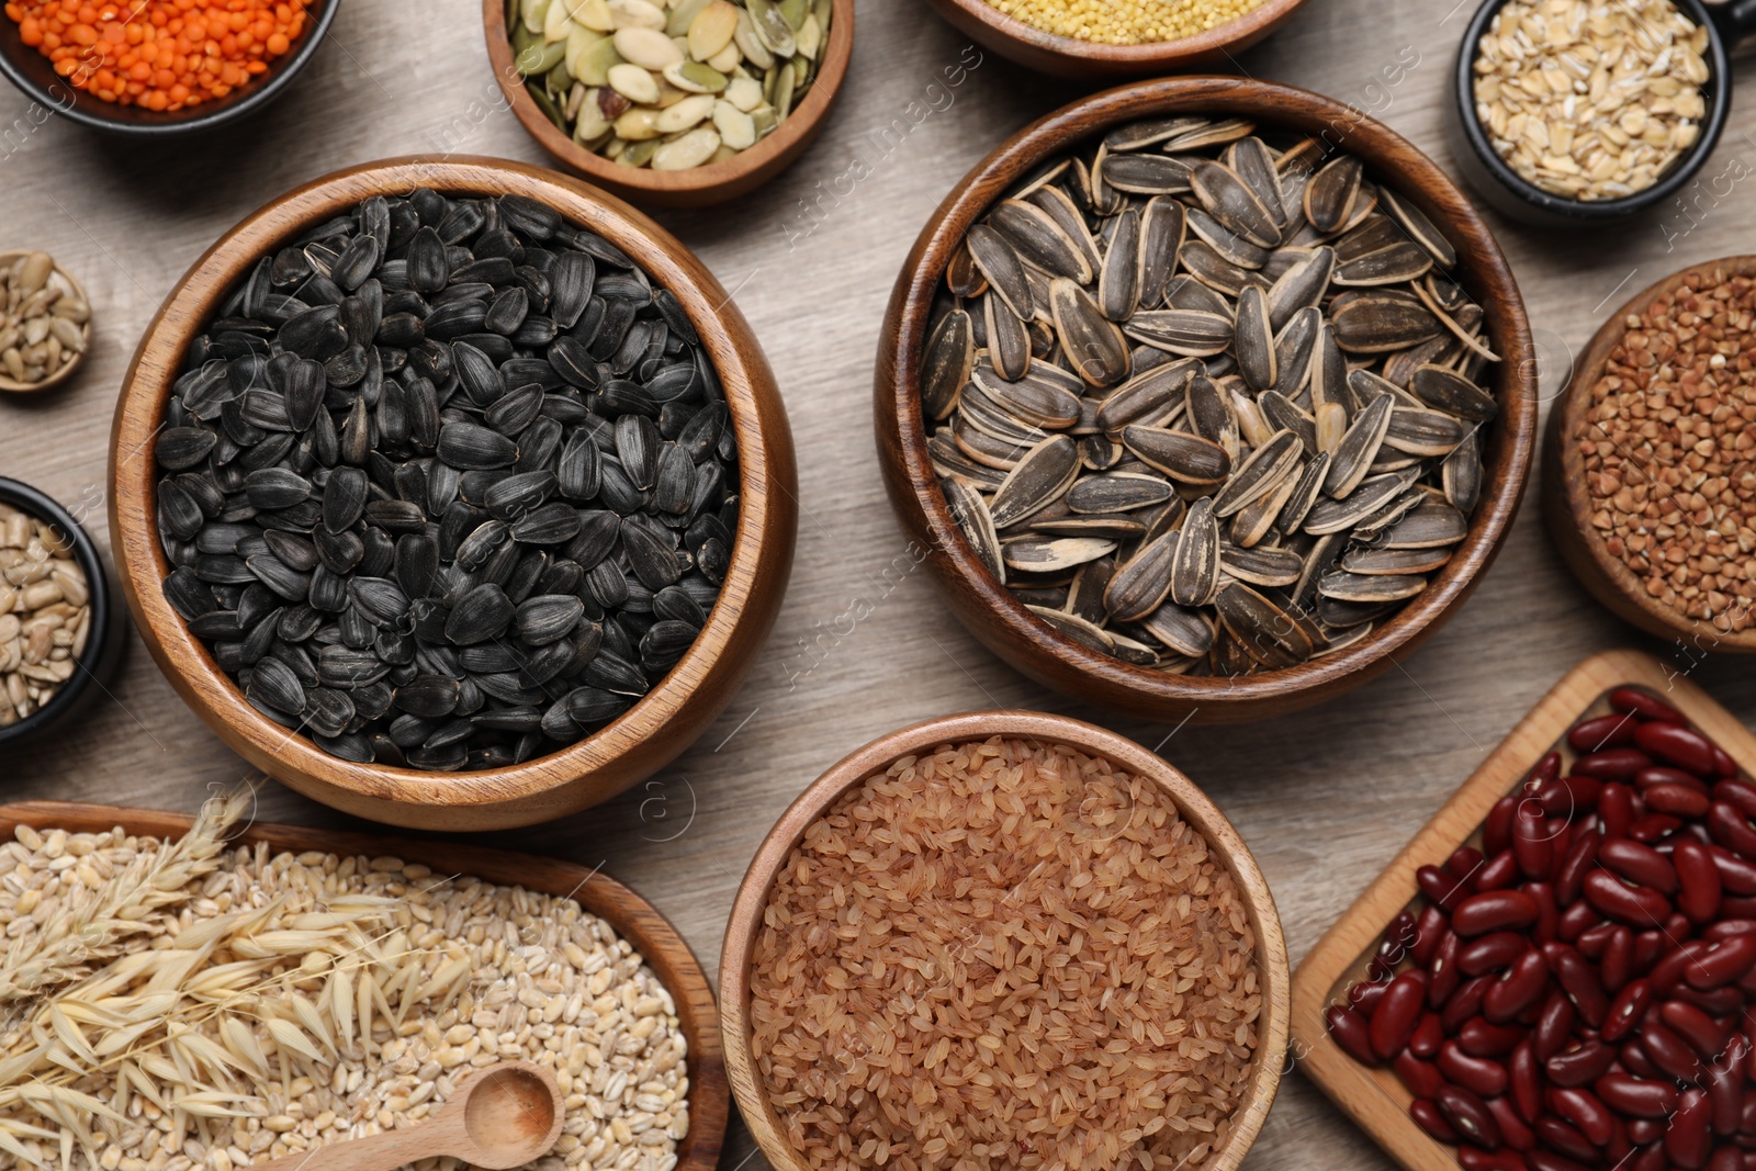
[(227, 836), (249, 809), (255, 788), (214, 797), (176, 843), (142, 853), (32, 936), (0, 962), (0, 1004), (42, 995), (72, 983), (121, 953), (121, 943), (151, 929), (153, 916), (183, 904), (211, 874)]

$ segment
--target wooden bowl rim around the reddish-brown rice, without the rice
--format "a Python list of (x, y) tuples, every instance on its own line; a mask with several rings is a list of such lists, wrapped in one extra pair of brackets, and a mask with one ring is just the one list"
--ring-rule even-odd
[(1036, 711), (976, 711), (959, 716), (927, 720), (890, 732), (831, 765), (787, 808), (774, 829), (762, 839), (757, 857), (750, 862), (732, 916), (725, 925), (725, 945), (720, 950), (720, 1029), (725, 1034), (725, 1064), (730, 1071), (732, 1094), (745, 1124), (755, 1136), (762, 1153), (780, 1171), (808, 1171), (810, 1164), (787, 1141), (787, 1129), (762, 1087), (750, 1052), (750, 959), (757, 932), (767, 906), (774, 876), (804, 837), (804, 830), (850, 788), (882, 772), (899, 757), (932, 751), (939, 744), (985, 741), (990, 736), (1033, 737), (1045, 743), (1069, 744), (1078, 751), (1101, 757), (1140, 778), (1150, 779), (1177, 806), (1187, 820), (1213, 846), (1224, 860), (1245, 901), (1250, 929), (1256, 932), (1259, 957), (1259, 983), (1264, 1011), (1257, 1024), (1257, 1048), (1250, 1080), (1245, 1087), (1233, 1129), (1226, 1143), (1215, 1150), (1199, 1171), (1233, 1171), (1256, 1141), (1280, 1087), (1287, 1045), (1287, 945), (1280, 932), (1280, 915), (1250, 848), (1238, 837), (1226, 815), (1213, 808), (1196, 785), (1140, 744), (1105, 729)]

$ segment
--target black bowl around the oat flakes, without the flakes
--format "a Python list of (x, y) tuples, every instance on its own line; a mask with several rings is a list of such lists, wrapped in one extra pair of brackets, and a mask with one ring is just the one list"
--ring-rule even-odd
[(1702, 86), (1707, 114), (1702, 118), (1702, 133), (1652, 186), (1624, 198), (1589, 202), (1552, 195), (1522, 179), (1494, 153), (1487, 130), (1475, 116), (1475, 47), (1505, 4), (1507, 0), (1487, 0), (1465, 30), (1463, 44), (1457, 47), (1457, 65), (1452, 70), (1452, 100), (1445, 111), (1447, 139), (1457, 170), (1494, 211), (1544, 228), (1603, 226), (1665, 204), (1695, 179), (1702, 163), (1714, 153), (1726, 128), (1726, 112), (1731, 109), (1726, 46), (1756, 30), (1756, 0), (1731, 0), (1712, 9), (1702, 0), (1672, 0), (1686, 18), (1707, 28), (1707, 83)]

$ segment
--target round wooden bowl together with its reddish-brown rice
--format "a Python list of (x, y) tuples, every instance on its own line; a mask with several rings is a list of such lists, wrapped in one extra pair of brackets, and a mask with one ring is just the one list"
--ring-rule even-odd
[(1287, 1046), (1226, 816), (1103, 729), (931, 720), (820, 776), (725, 932), (732, 1092), (780, 1171), (1231, 1171)]

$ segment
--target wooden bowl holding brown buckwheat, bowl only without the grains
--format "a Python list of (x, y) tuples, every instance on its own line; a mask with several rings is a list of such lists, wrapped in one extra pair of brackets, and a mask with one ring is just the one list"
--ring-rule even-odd
[(1726, 276), (1756, 277), (1756, 256), (1710, 260), (1668, 276), (1612, 313), (1591, 337), (1586, 353), (1573, 363), (1573, 379), (1568, 383), (1566, 393), (1549, 411), (1542, 455), (1542, 506), (1561, 560), (1573, 571), (1580, 585), (1623, 621), (1665, 641), (1679, 639), (1679, 644), (1693, 650), (1751, 655), (1756, 653), (1756, 627), (1733, 634), (1716, 629), (1712, 621), (1689, 618), (1649, 597), (1635, 571), (1619, 557), (1610, 555), (1598, 528), (1591, 523), (1594, 507), (1586, 492), (1586, 456), (1572, 442), (1591, 407), (1593, 384), (1603, 376), (1610, 353), (1628, 332), (1623, 321), (1630, 314), (1645, 313), (1654, 300), (1682, 288), (1688, 277), (1716, 270)]

